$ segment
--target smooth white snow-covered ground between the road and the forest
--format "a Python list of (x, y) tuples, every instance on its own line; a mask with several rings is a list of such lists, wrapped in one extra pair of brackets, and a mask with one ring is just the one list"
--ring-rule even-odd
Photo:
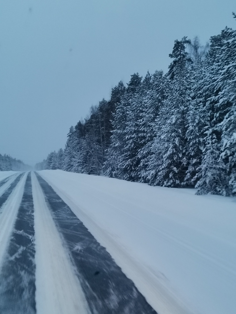
[(234, 314), (236, 199), (39, 171), (159, 314)]

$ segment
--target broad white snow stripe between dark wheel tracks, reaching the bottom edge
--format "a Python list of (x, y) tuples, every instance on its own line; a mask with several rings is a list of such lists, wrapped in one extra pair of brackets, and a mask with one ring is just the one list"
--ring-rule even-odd
[(33, 172), (31, 179), (35, 216), (37, 314), (89, 314), (69, 253), (63, 246)]

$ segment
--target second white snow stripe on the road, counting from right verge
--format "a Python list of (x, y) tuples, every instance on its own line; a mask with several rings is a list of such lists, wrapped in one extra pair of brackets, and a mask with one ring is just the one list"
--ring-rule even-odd
[[(12, 230), (14, 228), (15, 220), (17, 217), (18, 209), (23, 197), (25, 181), (28, 173), (20, 179), (10, 196), (3, 204), (0, 214), (0, 270), (6, 249), (8, 247)], [(15, 179), (15, 177), (14, 177)], [(11, 179), (14, 181), (14, 179)], [(8, 183), (8, 182), (7, 182)], [(10, 185), (10, 184), (9, 184)]]

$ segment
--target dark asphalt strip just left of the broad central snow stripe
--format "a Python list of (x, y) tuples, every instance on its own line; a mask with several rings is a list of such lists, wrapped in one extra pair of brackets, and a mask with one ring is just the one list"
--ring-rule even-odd
[(34, 209), (31, 174), (0, 273), (0, 313), (35, 314)]

